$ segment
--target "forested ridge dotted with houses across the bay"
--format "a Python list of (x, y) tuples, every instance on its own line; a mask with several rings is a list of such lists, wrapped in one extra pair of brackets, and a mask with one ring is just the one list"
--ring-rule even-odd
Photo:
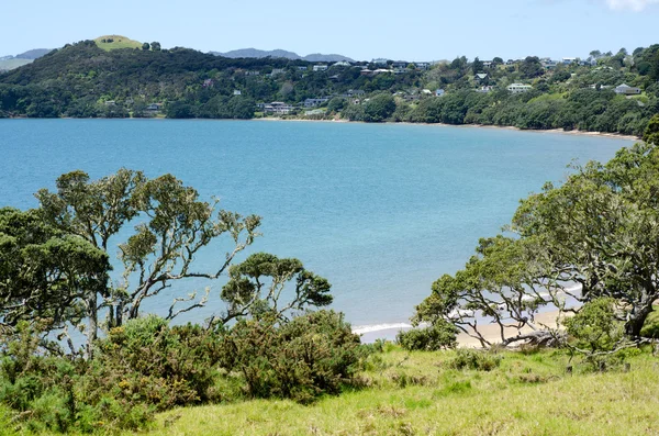
[[(189, 48), (103, 51), (67, 45), (0, 75), (0, 116), (267, 116), (565, 128), (641, 135), (659, 113), (659, 45), (550, 66), (535, 56), (487, 64), (459, 57), (428, 67), (224, 58)], [(511, 92), (523, 83), (525, 92)], [(626, 85), (638, 92), (624, 94)], [(438, 94), (440, 97), (438, 97)], [(308, 104), (306, 99), (323, 99)], [(150, 107), (156, 103), (156, 107)], [(314, 109), (315, 108), (315, 109)], [(309, 109), (314, 109), (309, 111)]]

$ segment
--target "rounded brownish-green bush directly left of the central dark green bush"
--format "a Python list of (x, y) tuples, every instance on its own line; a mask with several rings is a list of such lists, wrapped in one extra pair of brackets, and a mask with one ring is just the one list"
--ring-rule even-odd
[(220, 359), (217, 335), (197, 325), (169, 327), (158, 316), (132, 320), (99, 340), (88, 394), (163, 411), (209, 400)]

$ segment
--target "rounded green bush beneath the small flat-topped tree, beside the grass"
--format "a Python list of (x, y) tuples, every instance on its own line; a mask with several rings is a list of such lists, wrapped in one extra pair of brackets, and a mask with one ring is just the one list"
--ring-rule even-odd
[(320, 311), (277, 324), (239, 321), (223, 337), (222, 366), (238, 371), (247, 393), (308, 403), (337, 394), (359, 368), (359, 336), (343, 314)]

